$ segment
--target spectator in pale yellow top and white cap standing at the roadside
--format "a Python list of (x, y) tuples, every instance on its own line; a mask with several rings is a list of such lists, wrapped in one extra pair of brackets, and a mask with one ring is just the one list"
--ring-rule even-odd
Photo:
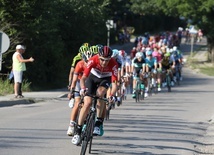
[(14, 93), (15, 98), (23, 98), (22, 95), (22, 76), (23, 71), (26, 71), (26, 62), (33, 62), (34, 59), (30, 57), (29, 59), (24, 59), (22, 54), (25, 52), (25, 47), (23, 45), (16, 46), (16, 52), (13, 54), (13, 74), (14, 74)]

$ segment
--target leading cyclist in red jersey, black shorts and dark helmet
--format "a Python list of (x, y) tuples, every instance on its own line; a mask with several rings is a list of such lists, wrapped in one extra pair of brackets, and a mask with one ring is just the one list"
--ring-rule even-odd
[[(80, 80), (80, 94), (84, 95), (84, 104), (80, 110), (77, 131), (72, 138), (72, 143), (77, 145), (80, 142), (80, 134), (82, 132), (82, 126), (86, 119), (87, 113), (89, 112), (92, 97), (90, 95), (98, 95), (104, 97), (108, 87), (112, 83), (111, 96), (109, 97), (110, 102), (115, 102), (115, 93), (117, 91), (117, 74), (118, 65), (115, 59), (111, 58), (112, 50), (108, 46), (103, 46), (99, 49), (99, 54), (89, 59), (86, 69), (84, 70), (83, 76)], [(86, 91), (87, 90), (87, 91)], [(104, 117), (102, 112), (105, 108), (105, 104), (102, 100), (97, 102), (97, 120), (94, 127), (94, 135), (100, 135), (100, 126), (102, 126)]]

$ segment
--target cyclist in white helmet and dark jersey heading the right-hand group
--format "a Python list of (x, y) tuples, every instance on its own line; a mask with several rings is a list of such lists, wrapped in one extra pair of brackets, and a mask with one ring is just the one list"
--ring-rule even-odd
[(132, 60), (132, 73), (133, 73), (133, 94), (132, 97), (135, 98), (135, 87), (136, 81), (140, 78), (140, 74), (145, 73), (145, 59), (142, 52), (137, 52), (134, 59)]

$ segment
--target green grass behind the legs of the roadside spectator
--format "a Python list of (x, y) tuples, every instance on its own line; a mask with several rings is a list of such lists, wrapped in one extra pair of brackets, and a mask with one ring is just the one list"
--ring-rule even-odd
[[(24, 80), (22, 83), (22, 91), (31, 91), (30, 82)], [(0, 79), (0, 96), (13, 94), (14, 92), (14, 83), (11, 83), (8, 79), (2, 80)]]

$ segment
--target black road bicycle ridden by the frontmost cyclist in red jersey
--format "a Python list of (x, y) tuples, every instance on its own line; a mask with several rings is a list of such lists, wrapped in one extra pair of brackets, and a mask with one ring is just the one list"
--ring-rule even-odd
[[(87, 146), (89, 143), (89, 153), (91, 153), (91, 147), (92, 147), (92, 140), (93, 140), (93, 131), (94, 131), (94, 125), (96, 121), (96, 106), (97, 106), (97, 100), (103, 100), (105, 103), (109, 103), (108, 99), (106, 98), (100, 98), (96, 95), (87, 95), (92, 97), (92, 105), (90, 107), (89, 113), (86, 117), (85, 124), (81, 133), (80, 138), (80, 144), (81, 144), (81, 152), (80, 155), (85, 155)], [(83, 99), (82, 99), (83, 102)]]

